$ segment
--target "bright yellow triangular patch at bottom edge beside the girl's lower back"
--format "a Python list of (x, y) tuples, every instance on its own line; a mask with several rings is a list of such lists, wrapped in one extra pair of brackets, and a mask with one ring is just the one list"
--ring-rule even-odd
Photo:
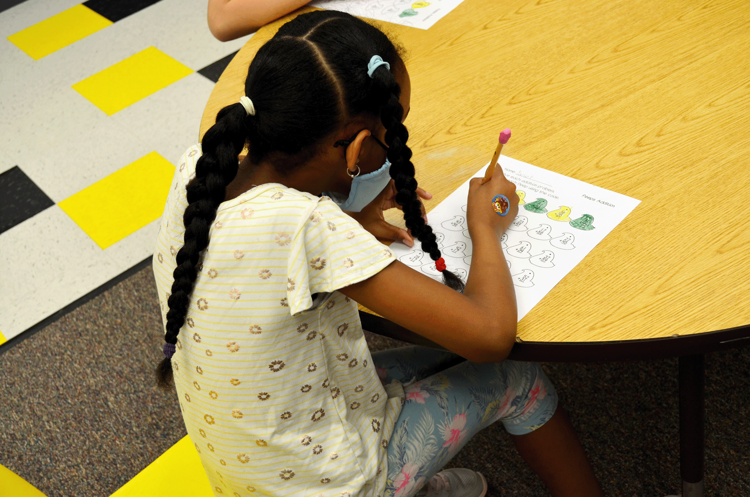
[(110, 497), (214, 497), (214, 492), (185, 435)]

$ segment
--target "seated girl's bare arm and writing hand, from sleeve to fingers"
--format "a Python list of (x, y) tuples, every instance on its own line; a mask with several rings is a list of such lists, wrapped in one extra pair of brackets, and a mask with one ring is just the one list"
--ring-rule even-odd
[[(517, 213), (518, 197), (502, 171), (486, 184), (480, 182), (472, 179), (469, 186), (472, 267), (463, 294), (399, 261), (339, 291), (468, 360), (490, 363), (504, 360), (515, 341), (515, 291), (499, 236)], [(508, 215), (493, 211), (491, 200), (496, 194), (511, 200)]]

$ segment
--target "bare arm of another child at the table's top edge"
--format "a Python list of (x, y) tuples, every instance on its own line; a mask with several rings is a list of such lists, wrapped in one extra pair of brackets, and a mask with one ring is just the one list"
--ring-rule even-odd
[(208, 0), (208, 29), (219, 41), (257, 32), (310, 0)]

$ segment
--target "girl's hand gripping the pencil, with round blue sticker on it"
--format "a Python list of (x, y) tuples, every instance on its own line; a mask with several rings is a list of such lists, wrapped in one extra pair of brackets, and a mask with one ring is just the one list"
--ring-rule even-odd
[[(497, 215), (492, 208), (492, 199), (495, 195), (505, 195), (510, 202), (510, 209), (506, 215)], [(481, 178), (472, 178), (469, 182), (469, 195), (466, 206), (466, 222), (469, 225), (469, 234), (474, 233), (482, 227), (492, 227), (498, 235), (505, 232), (511, 225), (513, 219), (518, 215), (518, 194), (516, 185), (502, 172), (499, 164), (489, 181), (481, 184)]]

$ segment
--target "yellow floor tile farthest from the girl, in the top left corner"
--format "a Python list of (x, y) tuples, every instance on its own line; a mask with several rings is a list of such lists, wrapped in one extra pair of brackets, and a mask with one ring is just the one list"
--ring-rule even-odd
[(86, 38), (112, 21), (102, 17), (84, 5), (76, 5), (49, 19), (29, 26), (7, 39), (26, 52), (34, 60), (49, 55), (74, 41)]

